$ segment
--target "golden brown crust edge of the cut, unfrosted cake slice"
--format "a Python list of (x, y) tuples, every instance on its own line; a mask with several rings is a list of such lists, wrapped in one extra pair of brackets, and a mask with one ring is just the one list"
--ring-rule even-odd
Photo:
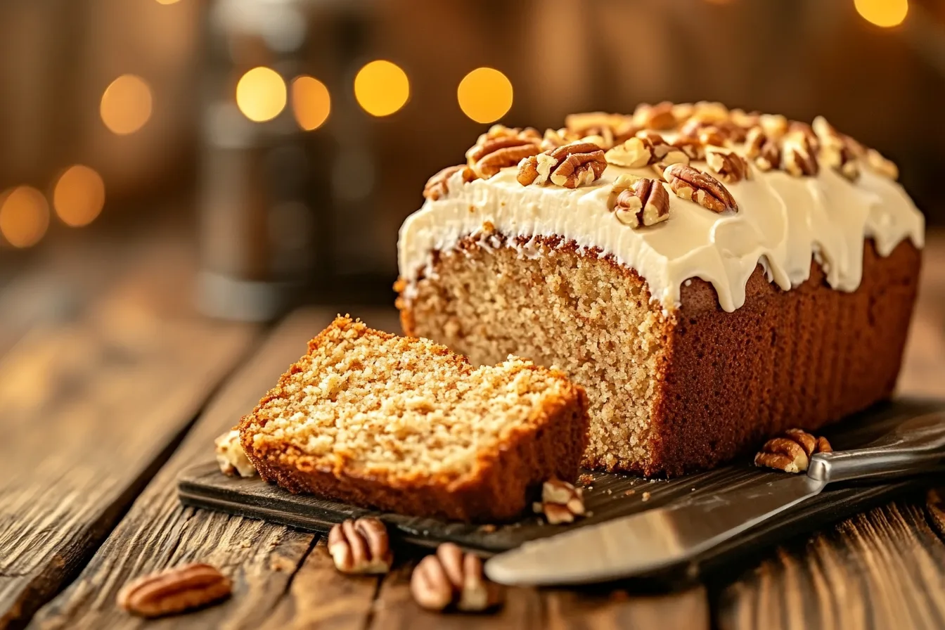
[[(396, 335), (373, 331), (349, 317), (338, 317), (325, 331), (309, 342), (309, 354), (289, 367), (279, 384), (266, 393), (253, 412), (239, 424), (241, 443), (260, 476), (294, 492), (311, 492), (337, 501), (415, 516), (435, 516), (458, 520), (511, 519), (524, 510), (529, 492), (550, 477), (574, 480), (587, 442), (587, 396), (584, 389), (566, 380), (557, 370), (533, 365), (519, 370), (541, 370), (560, 379), (559, 395), (549, 395), (523, 425), (509, 431), (504, 443), (477, 454), (472, 471), (447, 475), (425, 471), (412, 474), (367, 473), (349, 467), (334, 457), (318, 458), (301, 452), (295, 445), (257, 445), (253, 436), (265, 427), (267, 403), (286, 396), (285, 388), (310, 363), (332, 328), (356, 328), (359, 335), (392, 339)], [(442, 355), (458, 370), (469, 362), (444, 346), (420, 339), (404, 339), (407, 345)]]

